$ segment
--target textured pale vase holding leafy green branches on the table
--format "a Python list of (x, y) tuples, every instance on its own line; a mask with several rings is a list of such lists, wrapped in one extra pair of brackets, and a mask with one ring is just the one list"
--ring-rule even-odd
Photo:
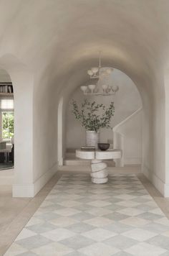
[(96, 101), (90, 102), (85, 99), (79, 107), (77, 101), (73, 100), (72, 113), (86, 129), (86, 146), (97, 148), (100, 129), (112, 128), (110, 122), (115, 113), (115, 106), (113, 101), (110, 102), (110, 106), (106, 107), (104, 104), (97, 104)]

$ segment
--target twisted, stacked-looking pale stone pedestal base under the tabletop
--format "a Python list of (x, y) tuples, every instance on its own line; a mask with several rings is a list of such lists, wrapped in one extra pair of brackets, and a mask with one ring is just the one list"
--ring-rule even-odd
[(92, 177), (92, 183), (107, 183), (108, 171), (106, 163), (103, 163), (102, 160), (94, 159), (91, 162), (91, 170), (92, 173), (90, 175)]

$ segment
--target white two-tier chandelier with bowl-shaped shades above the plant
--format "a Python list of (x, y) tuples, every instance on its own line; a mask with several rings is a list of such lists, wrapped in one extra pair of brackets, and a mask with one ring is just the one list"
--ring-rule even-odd
[(119, 90), (116, 85), (110, 84), (110, 76), (113, 68), (103, 68), (101, 66), (101, 57), (99, 58), (99, 66), (87, 70), (87, 74), (90, 79), (98, 79), (96, 84), (89, 84), (88, 86), (80, 86), (84, 95), (96, 95), (96, 96), (110, 96), (115, 95)]

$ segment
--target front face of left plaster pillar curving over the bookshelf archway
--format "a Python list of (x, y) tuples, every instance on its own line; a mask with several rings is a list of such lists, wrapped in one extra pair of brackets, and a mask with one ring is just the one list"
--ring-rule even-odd
[(11, 77), (14, 88), (14, 197), (33, 197), (33, 76), (14, 55), (0, 58), (0, 67)]

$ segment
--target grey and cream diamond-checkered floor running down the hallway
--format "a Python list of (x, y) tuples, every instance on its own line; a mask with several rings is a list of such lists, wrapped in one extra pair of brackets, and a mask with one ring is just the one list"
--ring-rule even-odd
[(168, 256), (169, 221), (135, 175), (62, 175), (5, 256)]

